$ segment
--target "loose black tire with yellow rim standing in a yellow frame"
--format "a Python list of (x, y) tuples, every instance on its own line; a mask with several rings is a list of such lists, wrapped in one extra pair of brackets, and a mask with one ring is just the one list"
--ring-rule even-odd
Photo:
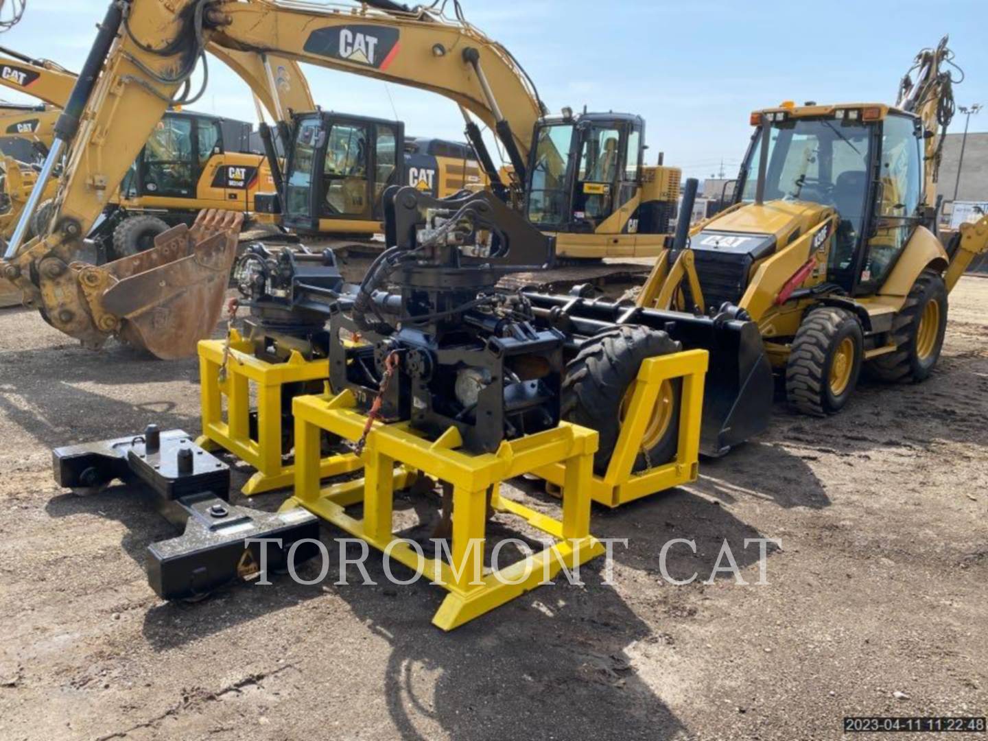
[[(623, 326), (587, 340), (566, 367), (562, 418), (597, 430), (600, 447), (594, 454), (594, 470), (598, 474), (607, 471), (614, 454), (631, 399), (630, 389), (642, 361), (681, 349), (665, 332)], [(667, 463), (676, 455), (681, 389), (679, 378), (663, 383), (633, 470)]]

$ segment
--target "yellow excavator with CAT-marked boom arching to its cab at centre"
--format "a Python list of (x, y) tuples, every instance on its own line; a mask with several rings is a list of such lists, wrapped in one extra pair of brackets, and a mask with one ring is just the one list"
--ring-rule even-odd
[[(55, 125), (41, 183), (48, 183), (66, 150), (67, 166), (51, 230), (25, 243), (21, 227), (40, 200), (33, 194), (20, 233), (5, 254), (4, 275), (25, 292), (30, 305), (87, 346), (99, 347), (119, 334), (135, 309), (127, 304), (126, 313), (121, 313), (113, 308), (117, 304), (105, 300), (111, 293), (124, 292), (112, 266), (74, 265), (79, 240), (110, 202), (162, 114), (182, 102), (174, 96), (187, 87), (206, 50), (240, 54), (235, 71), (278, 121), (288, 121), (288, 94), (297, 95), (299, 85), (298, 78), (292, 78), (285, 89), (272, 63), (274, 54), (286, 59), (287, 67), (307, 62), (440, 93), (453, 100), (467, 120), (467, 137), (491, 188), (555, 236), (558, 256), (587, 256), (591, 244), (598, 257), (656, 255), (665, 249), (668, 214), (656, 202), (657, 191), (663, 182), (668, 190), (678, 177), (645, 166), (640, 118), (569, 111), (546, 117), (518, 61), (461, 14), (450, 20), (387, 0), (348, 12), (269, 0), (131, 0), (115, 3), (108, 11)], [(475, 119), (496, 134), (513, 166), (513, 183), (501, 180)], [(292, 149), (300, 143), (298, 130)], [(307, 188), (310, 176), (289, 171), (286, 187), (291, 188), (294, 177)], [(42, 262), (46, 272), (40, 270)], [(88, 271), (91, 287), (81, 285), (83, 271)], [(144, 297), (140, 311), (153, 312), (151, 298)], [(175, 302), (171, 306), (168, 317), (159, 316), (159, 324), (182, 323), (183, 312)], [(190, 311), (197, 310), (190, 306)], [(152, 352), (171, 355), (155, 347)]]

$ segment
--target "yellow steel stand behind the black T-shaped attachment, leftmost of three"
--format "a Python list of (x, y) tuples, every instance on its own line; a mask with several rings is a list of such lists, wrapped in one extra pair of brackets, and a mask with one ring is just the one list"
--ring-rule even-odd
[[(199, 372), (203, 396), (203, 435), (196, 441), (206, 450), (223, 449), (257, 468), (243, 488), (246, 496), (290, 486), (294, 468), (282, 459), (282, 385), (325, 380), (328, 361), (306, 361), (292, 352), (286, 363), (266, 363), (252, 354), (253, 344), (236, 330), (229, 336), (225, 378), (220, 368), (227, 343), (199, 343)], [(250, 384), (257, 386), (257, 440), (250, 436)], [(226, 421), (222, 397), (226, 396)], [(321, 475), (335, 476), (360, 470), (356, 455), (332, 455), (322, 460)]]

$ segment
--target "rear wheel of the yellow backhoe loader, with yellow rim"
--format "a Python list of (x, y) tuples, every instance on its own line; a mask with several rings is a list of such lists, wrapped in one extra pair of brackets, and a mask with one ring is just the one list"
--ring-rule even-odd
[(891, 383), (917, 383), (930, 377), (947, 334), (947, 285), (939, 273), (920, 273), (906, 302), (892, 320), (896, 350), (869, 361), (866, 370)]

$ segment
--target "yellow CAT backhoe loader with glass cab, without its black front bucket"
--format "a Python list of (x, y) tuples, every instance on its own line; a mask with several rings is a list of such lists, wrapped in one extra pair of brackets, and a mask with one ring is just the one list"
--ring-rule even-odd
[(750, 317), (789, 404), (807, 414), (842, 409), (863, 368), (927, 378), (947, 293), (988, 250), (988, 218), (947, 248), (936, 234), (951, 59), (946, 38), (920, 52), (895, 106), (786, 102), (753, 113), (733, 206), (660, 257), (638, 305)]

